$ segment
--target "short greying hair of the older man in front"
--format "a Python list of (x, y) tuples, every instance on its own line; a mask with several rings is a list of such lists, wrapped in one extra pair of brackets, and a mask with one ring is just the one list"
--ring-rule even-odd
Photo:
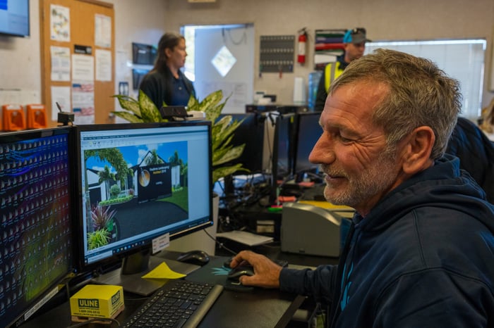
[(430, 157), (440, 158), (462, 108), (459, 82), (426, 58), (388, 49), (352, 61), (332, 82), (329, 94), (355, 82), (383, 83), (389, 92), (375, 105), (373, 122), (382, 127), (388, 147), (394, 148), (416, 127), (435, 134)]

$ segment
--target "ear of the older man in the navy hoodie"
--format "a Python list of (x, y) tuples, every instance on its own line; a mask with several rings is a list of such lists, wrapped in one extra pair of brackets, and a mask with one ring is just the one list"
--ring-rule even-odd
[(425, 170), (432, 163), (430, 152), (435, 134), (430, 127), (417, 127), (406, 139), (402, 155), (403, 171), (409, 175)]

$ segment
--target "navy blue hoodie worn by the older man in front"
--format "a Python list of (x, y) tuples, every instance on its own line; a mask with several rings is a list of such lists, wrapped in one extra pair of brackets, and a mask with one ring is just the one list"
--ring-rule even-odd
[(331, 305), (327, 327), (494, 327), (494, 206), (463, 172), (436, 161), (355, 215), (339, 265), (280, 289)]

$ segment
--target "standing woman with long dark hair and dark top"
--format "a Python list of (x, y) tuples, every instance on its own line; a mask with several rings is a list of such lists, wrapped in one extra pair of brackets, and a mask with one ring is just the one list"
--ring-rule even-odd
[(183, 75), (180, 68), (187, 56), (185, 38), (167, 32), (159, 39), (155, 67), (145, 75), (140, 89), (152, 100), (157, 108), (163, 103), (169, 106), (187, 106), (195, 90), (191, 80)]

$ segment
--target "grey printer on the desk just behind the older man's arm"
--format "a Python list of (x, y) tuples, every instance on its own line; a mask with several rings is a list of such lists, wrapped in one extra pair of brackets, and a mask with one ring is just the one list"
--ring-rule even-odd
[[(338, 257), (354, 209), (325, 201), (284, 203), (281, 246), (288, 253)], [(342, 231), (340, 232), (340, 226)]]

